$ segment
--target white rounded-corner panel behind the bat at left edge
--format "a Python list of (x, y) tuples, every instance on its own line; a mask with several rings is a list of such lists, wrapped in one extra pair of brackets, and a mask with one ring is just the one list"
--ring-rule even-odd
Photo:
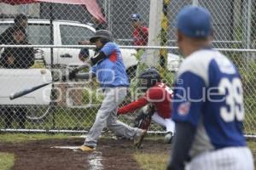
[(9, 94), (14, 94), (51, 80), (51, 73), (46, 69), (0, 69), (0, 105), (49, 105), (50, 84), (13, 100), (9, 99)]

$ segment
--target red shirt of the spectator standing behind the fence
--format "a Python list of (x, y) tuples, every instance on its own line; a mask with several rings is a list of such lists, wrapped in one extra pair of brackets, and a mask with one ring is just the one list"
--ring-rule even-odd
[(133, 31), (133, 45), (146, 46), (148, 44), (148, 28), (139, 27)]

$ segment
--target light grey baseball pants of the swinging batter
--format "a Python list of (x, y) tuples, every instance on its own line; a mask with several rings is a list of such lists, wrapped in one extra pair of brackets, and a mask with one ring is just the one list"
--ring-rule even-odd
[(106, 126), (118, 136), (124, 136), (127, 139), (131, 139), (142, 133), (142, 129), (130, 127), (117, 120), (117, 108), (125, 99), (126, 93), (127, 88), (107, 88), (105, 90), (105, 98), (100, 110), (97, 112), (96, 121), (90, 128), (84, 145), (96, 147), (97, 140), (102, 133), (102, 129)]

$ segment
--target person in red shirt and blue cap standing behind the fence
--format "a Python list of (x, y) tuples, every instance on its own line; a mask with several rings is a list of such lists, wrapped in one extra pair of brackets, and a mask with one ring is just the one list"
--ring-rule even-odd
[(146, 46), (148, 44), (148, 28), (143, 26), (140, 14), (131, 15), (133, 30), (133, 42), (135, 46)]

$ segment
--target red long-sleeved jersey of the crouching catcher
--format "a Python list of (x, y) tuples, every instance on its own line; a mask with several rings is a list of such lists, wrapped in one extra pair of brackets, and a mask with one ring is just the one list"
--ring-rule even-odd
[(157, 82), (154, 87), (148, 88), (143, 97), (123, 106), (118, 110), (119, 115), (126, 114), (131, 111), (136, 111), (148, 103), (155, 106), (155, 111), (163, 118), (170, 118), (172, 116), (172, 96), (171, 88), (168, 88), (165, 83)]

